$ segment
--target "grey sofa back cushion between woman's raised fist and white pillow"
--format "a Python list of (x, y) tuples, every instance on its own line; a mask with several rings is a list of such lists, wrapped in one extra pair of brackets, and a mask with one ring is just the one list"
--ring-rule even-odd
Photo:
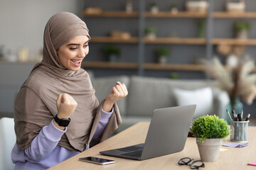
[(150, 116), (156, 108), (175, 106), (169, 79), (131, 77), (127, 115)]

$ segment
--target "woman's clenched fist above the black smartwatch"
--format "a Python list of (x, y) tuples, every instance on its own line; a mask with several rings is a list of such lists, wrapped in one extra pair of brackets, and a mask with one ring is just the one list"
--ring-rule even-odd
[(70, 115), (74, 113), (78, 103), (69, 94), (59, 94), (56, 106), (58, 110), (58, 118), (70, 118)]

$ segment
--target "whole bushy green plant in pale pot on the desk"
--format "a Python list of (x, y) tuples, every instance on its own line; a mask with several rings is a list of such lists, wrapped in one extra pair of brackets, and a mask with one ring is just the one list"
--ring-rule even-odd
[(223, 142), (230, 135), (228, 123), (216, 115), (203, 115), (193, 120), (189, 130), (196, 137), (203, 162), (216, 162)]

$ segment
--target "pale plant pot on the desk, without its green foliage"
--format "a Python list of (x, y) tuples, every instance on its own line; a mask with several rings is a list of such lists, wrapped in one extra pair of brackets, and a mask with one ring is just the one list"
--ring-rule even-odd
[(203, 143), (198, 142), (196, 138), (196, 144), (198, 145), (199, 154), (203, 162), (216, 162), (220, 153), (220, 147), (222, 145), (222, 138), (206, 139)]

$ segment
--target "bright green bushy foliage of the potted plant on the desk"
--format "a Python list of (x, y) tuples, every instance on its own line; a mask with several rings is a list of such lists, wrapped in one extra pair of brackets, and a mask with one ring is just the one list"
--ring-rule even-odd
[(224, 138), (230, 135), (228, 123), (216, 115), (203, 115), (193, 120), (192, 127), (189, 130), (194, 137), (203, 142), (208, 138)]

